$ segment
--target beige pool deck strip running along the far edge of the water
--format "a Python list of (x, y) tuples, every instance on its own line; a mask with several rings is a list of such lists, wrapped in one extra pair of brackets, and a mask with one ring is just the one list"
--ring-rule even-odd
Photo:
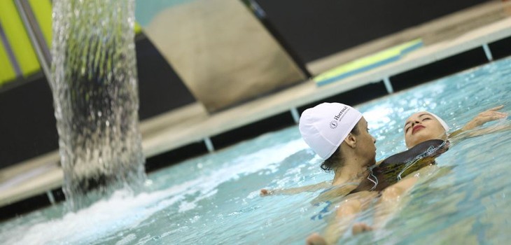
[[(431, 64), (473, 48), (487, 47), (487, 43), (509, 36), (511, 36), (511, 18), (503, 18), (482, 27), (464, 31), (456, 36), (426, 43), (423, 48), (409, 53), (396, 62), (321, 87), (317, 87), (314, 81), (307, 80), (285, 90), (214, 114), (207, 113), (199, 103), (183, 106), (141, 122), (144, 155), (146, 158), (150, 158), (197, 142), (204, 142), (205, 145), (211, 147), (209, 145), (211, 137), (281, 113), (289, 112), (297, 120), (297, 107), (363, 85), (381, 83), (382, 80), (395, 74)], [(488, 57), (490, 58), (490, 56)], [(335, 60), (341, 59), (336, 58)], [(325, 66), (325, 64), (318, 62), (316, 67), (320, 66)], [(388, 85), (388, 91), (391, 91), (391, 83), (386, 85)], [(214, 142), (212, 146), (214, 147)], [(63, 173), (58, 162), (58, 151), (54, 151), (20, 162), (13, 167), (0, 169), (0, 207), (34, 195), (50, 193), (50, 190), (61, 187)]]

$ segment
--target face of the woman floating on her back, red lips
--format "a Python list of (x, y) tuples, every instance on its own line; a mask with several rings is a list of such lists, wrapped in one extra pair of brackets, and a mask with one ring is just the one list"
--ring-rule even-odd
[(421, 111), (410, 116), (405, 123), (405, 143), (412, 148), (430, 139), (445, 139), (444, 127), (430, 113)]

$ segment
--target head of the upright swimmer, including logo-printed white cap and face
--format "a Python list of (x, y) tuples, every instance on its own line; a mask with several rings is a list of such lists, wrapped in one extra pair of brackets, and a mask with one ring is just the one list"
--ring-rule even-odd
[[(376, 140), (367, 132), (367, 121), (362, 113), (351, 106), (340, 103), (318, 104), (302, 113), (299, 128), (305, 143), (323, 160), (340, 155), (339, 146), (344, 141), (351, 144), (349, 139), (356, 139), (352, 148), (357, 154), (372, 160), (376, 155)], [(326, 168), (330, 170), (332, 166)]]

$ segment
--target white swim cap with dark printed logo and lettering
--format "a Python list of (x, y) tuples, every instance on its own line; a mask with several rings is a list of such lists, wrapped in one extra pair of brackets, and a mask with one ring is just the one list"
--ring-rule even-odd
[(300, 117), (300, 134), (321, 158), (330, 158), (362, 118), (362, 113), (340, 103), (322, 103)]

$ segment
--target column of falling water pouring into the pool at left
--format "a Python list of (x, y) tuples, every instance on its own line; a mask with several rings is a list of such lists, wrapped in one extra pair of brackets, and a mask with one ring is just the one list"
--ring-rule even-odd
[(53, 1), (52, 79), (72, 210), (144, 182), (134, 0)]

